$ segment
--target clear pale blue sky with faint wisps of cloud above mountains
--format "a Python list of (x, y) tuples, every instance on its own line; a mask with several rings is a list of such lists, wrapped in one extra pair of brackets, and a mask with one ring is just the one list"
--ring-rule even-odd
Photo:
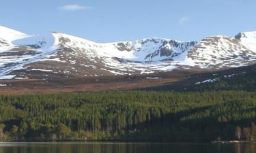
[(145, 37), (199, 41), (256, 31), (255, 8), (255, 0), (1, 0), (0, 25), (97, 42)]

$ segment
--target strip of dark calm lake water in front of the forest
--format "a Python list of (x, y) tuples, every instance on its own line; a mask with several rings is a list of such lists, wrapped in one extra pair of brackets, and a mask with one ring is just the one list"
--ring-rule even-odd
[(0, 153), (255, 153), (256, 144), (0, 143)]

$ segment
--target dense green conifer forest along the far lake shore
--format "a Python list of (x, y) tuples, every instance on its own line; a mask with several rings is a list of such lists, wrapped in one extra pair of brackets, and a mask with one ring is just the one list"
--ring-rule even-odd
[(2, 95), (0, 139), (229, 140), (255, 111), (256, 92), (244, 91)]

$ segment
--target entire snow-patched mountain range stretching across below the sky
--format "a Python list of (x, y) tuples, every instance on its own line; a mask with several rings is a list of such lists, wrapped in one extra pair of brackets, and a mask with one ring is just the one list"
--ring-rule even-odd
[(201, 41), (147, 38), (100, 44), (64, 33), (27, 35), (0, 27), (0, 78), (97, 77), (212, 71), (256, 61), (256, 32)]

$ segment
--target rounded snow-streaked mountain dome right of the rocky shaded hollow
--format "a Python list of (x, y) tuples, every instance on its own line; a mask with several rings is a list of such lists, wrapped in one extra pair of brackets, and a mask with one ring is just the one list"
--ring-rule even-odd
[(240, 39), (222, 35), (207, 37), (189, 50), (187, 58), (201, 68), (219, 69), (248, 65), (255, 61), (256, 50), (251, 50), (242, 42)]

